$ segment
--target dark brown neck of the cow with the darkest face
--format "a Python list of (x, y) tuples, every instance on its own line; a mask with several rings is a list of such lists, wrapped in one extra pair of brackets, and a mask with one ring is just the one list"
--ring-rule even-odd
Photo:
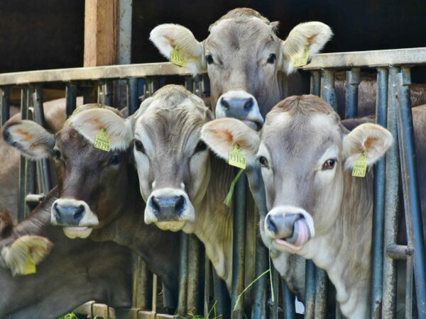
[[(129, 167), (129, 169), (133, 169)], [(164, 232), (155, 225), (146, 225), (143, 220), (145, 203), (139, 191), (137, 174), (129, 174), (126, 203), (109, 226), (93, 235), (94, 240), (112, 240), (136, 252), (148, 269), (157, 274), (169, 289), (178, 289), (178, 272), (174, 266), (179, 260), (179, 240), (177, 233)]]

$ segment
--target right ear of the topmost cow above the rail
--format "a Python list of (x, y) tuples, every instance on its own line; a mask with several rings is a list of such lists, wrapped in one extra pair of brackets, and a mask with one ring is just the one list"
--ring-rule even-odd
[(332, 35), (332, 29), (322, 22), (312, 21), (295, 26), (283, 41), (283, 71), (286, 74), (294, 72), (295, 60), (302, 60), (300, 66), (306, 64), (308, 58), (320, 52)]

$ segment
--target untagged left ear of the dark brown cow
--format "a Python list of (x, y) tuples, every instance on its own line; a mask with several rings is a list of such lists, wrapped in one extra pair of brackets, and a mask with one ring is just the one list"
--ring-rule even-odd
[(55, 135), (33, 121), (7, 123), (3, 128), (3, 138), (30, 159), (50, 157), (55, 146)]

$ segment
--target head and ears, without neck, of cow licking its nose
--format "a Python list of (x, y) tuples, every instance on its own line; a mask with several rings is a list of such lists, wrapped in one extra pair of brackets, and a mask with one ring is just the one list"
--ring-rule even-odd
[(386, 129), (370, 123), (348, 133), (337, 113), (316, 96), (292, 96), (278, 103), (266, 117), (260, 140), (246, 133), (241, 141), (245, 125), (227, 121), (204, 125), (203, 139), (217, 145), (212, 149), (221, 157), (232, 150), (234, 135), (241, 147), (253, 149), (257, 143), (257, 154), (245, 150), (249, 162), (261, 166), (266, 189), (269, 212), (261, 223), (263, 242), (275, 251), (301, 254), (311, 238), (333, 227), (348, 189), (345, 184), (359, 179), (346, 170), (363, 152), (368, 165), (373, 164), (393, 140)]

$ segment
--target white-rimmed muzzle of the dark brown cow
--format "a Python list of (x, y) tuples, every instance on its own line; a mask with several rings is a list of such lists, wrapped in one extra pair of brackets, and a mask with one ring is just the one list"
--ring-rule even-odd
[(50, 223), (62, 226), (67, 237), (86, 238), (93, 227), (99, 225), (99, 219), (85, 201), (73, 198), (59, 198), (53, 202)]

